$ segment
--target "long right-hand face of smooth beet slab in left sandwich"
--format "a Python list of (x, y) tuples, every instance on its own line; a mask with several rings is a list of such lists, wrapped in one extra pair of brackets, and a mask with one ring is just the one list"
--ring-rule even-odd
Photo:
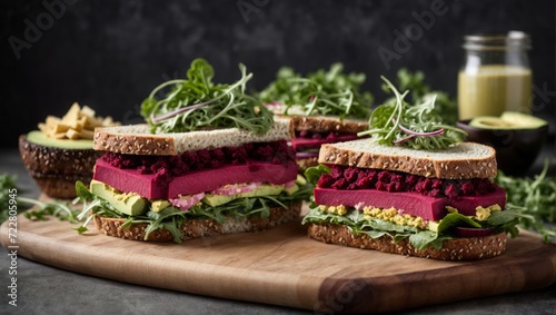
[(168, 186), (168, 197), (210, 191), (227, 184), (270, 183), (286, 184), (297, 178), (297, 164), (254, 163), (201, 170), (176, 177)]

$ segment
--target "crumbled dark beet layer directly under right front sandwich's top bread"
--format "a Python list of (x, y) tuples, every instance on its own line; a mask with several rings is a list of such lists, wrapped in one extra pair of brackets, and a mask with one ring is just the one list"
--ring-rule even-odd
[(330, 166), (330, 174), (318, 180), (318, 187), (335, 189), (378, 189), (384, 191), (415, 191), (424, 196), (457, 198), (480, 196), (494, 191), (495, 184), (488, 178), (439, 179), (405, 173)]

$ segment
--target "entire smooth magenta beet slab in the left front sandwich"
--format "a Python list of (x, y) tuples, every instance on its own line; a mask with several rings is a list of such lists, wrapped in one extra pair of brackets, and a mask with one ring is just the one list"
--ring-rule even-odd
[(227, 184), (270, 183), (285, 184), (296, 179), (297, 165), (271, 163), (251, 163), (231, 165), (217, 169), (191, 171), (168, 181), (168, 177), (141, 175), (135, 169), (121, 169), (106, 160), (97, 160), (93, 178), (113, 188), (136, 193), (149, 199), (169, 199), (178, 195), (210, 191)]

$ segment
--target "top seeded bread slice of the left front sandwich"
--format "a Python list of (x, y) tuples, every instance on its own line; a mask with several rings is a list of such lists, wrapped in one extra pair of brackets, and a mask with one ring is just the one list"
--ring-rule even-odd
[(289, 119), (275, 118), (270, 130), (257, 136), (238, 128), (151, 134), (146, 124), (100, 127), (95, 129), (93, 149), (128, 155), (180, 155), (185, 151), (236, 147), (249, 142), (290, 139), (294, 129)]

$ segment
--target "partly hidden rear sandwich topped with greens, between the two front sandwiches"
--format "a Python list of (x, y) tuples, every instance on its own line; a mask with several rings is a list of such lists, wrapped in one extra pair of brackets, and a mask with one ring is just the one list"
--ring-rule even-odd
[(328, 71), (302, 77), (282, 67), (258, 93), (274, 114), (291, 119), (291, 146), (300, 173), (317, 165), (322, 144), (357, 139), (368, 127), (373, 96), (360, 91), (365, 75), (342, 70), (341, 63), (334, 63)]

